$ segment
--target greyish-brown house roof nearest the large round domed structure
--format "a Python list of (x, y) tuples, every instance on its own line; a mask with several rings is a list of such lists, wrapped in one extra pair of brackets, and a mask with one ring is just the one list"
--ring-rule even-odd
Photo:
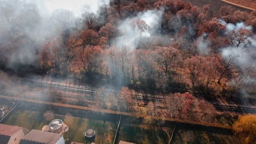
[(20, 144), (56, 144), (61, 136), (61, 134), (53, 132), (31, 130), (26, 136), (24, 136), (24, 138), (20, 140)]

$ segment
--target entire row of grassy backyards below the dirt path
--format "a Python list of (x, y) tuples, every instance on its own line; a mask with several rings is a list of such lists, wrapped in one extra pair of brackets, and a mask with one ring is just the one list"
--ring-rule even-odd
[[(5, 124), (28, 128), (28, 130), (42, 130), (49, 124), (43, 117), (48, 105), (23, 104), (10, 114)], [(84, 132), (87, 129), (96, 131), (96, 144), (112, 144), (117, 128), (118, 116), (112, 116), (89, 111), (74, 110), (70, 108), (52, 107), (55, 118), (62, 119), (70, 130), (64, 134), (65, 139), (85, 143)], [(67, 119), (66, 113), (73, 116)], [(232, 123), (232, 120), (230, 121)], [(173, 126), (151, 126), (140, 122), (136, 118), (124, 117), (118, 141), (128, 141), (136, 144), (168, 144)], [(242, 144), (235, 136), (223, 132), (206, 132), (202, 130), (178, 130), (174, 137), (174, 144)]]

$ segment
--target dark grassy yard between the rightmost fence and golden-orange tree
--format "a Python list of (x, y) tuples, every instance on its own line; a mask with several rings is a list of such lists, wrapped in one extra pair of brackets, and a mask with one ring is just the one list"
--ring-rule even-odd
[(196, 130), (179, 130), (174, 144), (243, 144), (235, 136)]

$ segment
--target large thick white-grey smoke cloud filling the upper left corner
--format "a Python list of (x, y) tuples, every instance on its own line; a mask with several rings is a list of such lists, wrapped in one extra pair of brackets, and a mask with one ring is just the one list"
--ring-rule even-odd
[(0, 44), (10, 51), (7, 68), (38, 66), (43, 41), (82, 28), (82, 12), (97, 14), (105, 4), (107, 0), (0, 0)]

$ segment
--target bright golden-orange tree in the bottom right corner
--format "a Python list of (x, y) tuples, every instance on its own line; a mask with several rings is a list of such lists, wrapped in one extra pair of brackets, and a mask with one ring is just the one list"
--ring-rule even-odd
[(236, 136), (245, 138), (245, 144), (256, 144), (256, 114), (240, 116), (232, 129)]

